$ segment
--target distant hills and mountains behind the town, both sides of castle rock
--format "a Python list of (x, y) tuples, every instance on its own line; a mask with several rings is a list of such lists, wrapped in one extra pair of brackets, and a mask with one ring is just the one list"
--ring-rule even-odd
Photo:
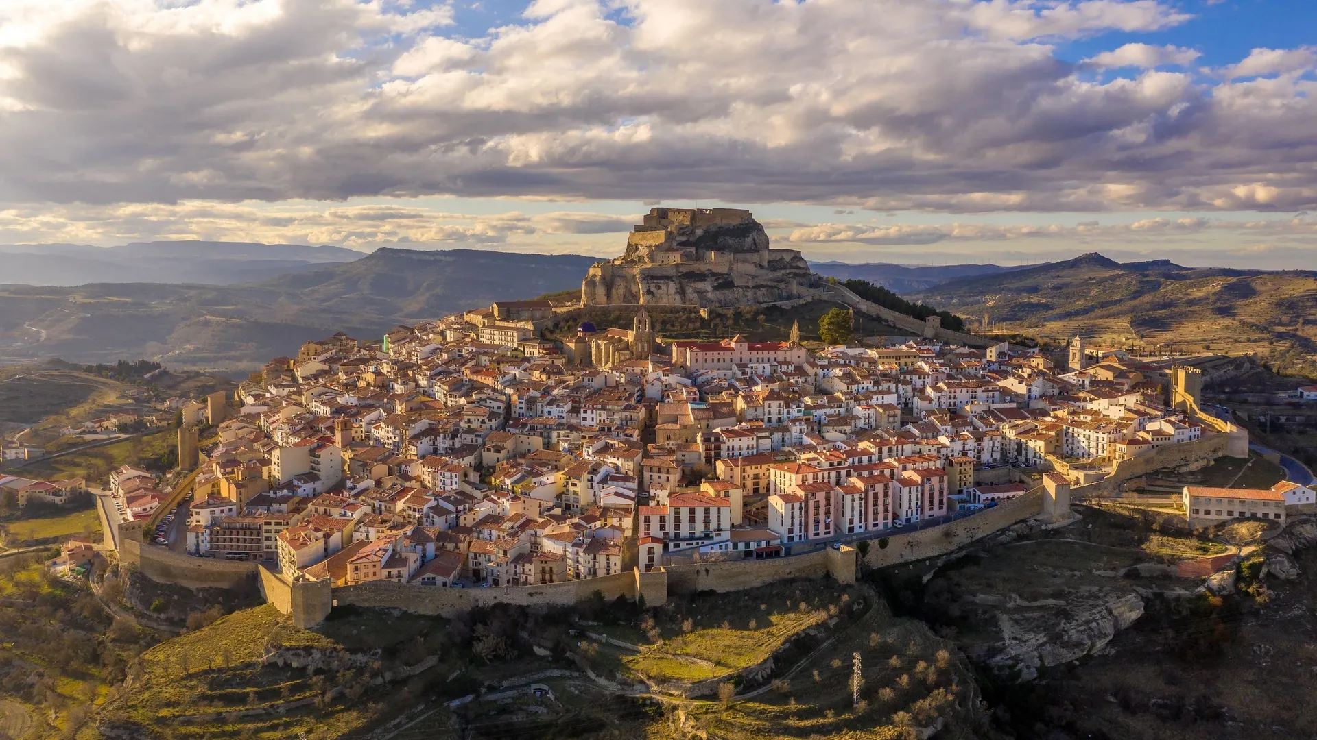
[[(0, 248), (4, 282), (16, 278), (11, 259), (32, 254), (13, 249)], [(253, 367), (340, 329), (374, 337), (399, 323), (577, 288), (598, 261), (407, 249), (358, 257), (337, 248), (217, 242), (59, 249), (70, 261), (119, 253), (119, 270), (133, 259), (175, 263), (154, 267), (157, 277), (209, 271), (209, 284), (150, 283), (146, 275), (115, 283), (120, 274), (108, 267), (97, 282), (76, 287), (0, 284), (0, 363), (141, 357), (175, 367)], [(813, 269), (882, 284), (965, 316), (972, 327), (986, 317), (997, 329), (1058, 340), (1080, 333), (1094, 342), (1255, 352), (1281, 367), (1317, 371), (1317, 327), (1305, 324), (1317, 316), (1317, 273), (1118, 263), (1096, 253), (1023, 267), (819, 262)], [(262, 279), (217, 284), (249, 270)]]

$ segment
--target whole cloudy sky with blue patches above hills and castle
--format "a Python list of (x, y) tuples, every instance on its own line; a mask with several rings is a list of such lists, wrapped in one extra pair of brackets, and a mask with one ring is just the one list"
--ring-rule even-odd
[(611, 257), (662, 204), (817, 261), (1317, 269), (1313, 29), (1310, 0), (0, 0), (0, 244)]

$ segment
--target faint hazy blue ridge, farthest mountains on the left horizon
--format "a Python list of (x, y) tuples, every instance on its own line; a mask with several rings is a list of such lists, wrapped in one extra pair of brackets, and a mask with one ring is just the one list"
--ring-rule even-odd
[(338, 246), (232, 241), (136, 241), (0, 245), (0, 283), (195, 283), (225, 286), (352, 262), (361, 251)]

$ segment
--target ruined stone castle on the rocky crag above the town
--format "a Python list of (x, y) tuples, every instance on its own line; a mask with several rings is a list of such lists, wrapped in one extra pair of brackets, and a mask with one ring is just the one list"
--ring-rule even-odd
[(735, 208), (653, 208), (622, 257), (590, 267), (582, 305), (722, 308), (822, 291), (794, 249), (770, 249), (764, 226)]

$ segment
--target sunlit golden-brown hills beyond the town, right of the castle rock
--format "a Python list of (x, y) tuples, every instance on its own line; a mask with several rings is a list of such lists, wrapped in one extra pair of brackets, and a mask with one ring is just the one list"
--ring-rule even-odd
[[(1064, 262), (947, 280), (914, 299), (994, 330), (1114, 346), (1255, 353), (1277, 370), (1317, 374), (1317, 273), (1115, 262)], [(1308, 319), (1308, 321), (1305, 321)]]

